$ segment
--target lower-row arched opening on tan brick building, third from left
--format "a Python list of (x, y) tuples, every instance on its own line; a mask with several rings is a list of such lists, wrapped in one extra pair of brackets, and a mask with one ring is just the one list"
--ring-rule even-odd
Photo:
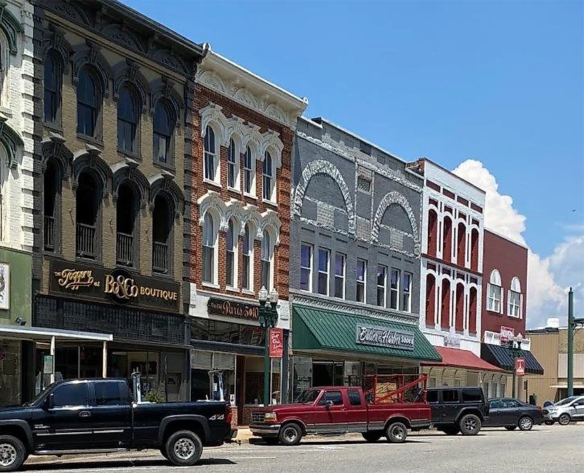
[(126, 181), (117, 189), (117, 264), (133, 266), (136, 247), (136, 221), (138, 220), (138, 199), (132, 186)]

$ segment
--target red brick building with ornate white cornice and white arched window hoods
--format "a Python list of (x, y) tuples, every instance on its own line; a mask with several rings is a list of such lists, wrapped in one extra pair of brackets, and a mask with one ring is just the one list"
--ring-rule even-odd
[[(211, 50), (194, 102), (185, 177), (191, 396), (209, 392), (209, 369), (223, 370), (227, 400), (243, 423), (243, 407), (263, 399), (261, 287), (279, 293), (277, 327), (287, 348), (292, 139), (307, 102)], [(272, 361), (276, 400), (287, 390), (286, 362)]]

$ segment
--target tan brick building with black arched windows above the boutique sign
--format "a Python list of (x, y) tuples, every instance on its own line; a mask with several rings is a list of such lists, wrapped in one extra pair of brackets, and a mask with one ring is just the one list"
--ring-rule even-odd
[(138, 369), (143, 394), (188, 398), (184, 157), (204, 50), (118, 2), (34, 3), (33, 321), (87, 332), (37, 343), (36, 371), (51, 351), (53, 376)]

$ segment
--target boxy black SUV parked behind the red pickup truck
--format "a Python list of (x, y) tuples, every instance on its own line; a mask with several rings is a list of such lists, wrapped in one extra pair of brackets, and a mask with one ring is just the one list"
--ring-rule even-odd
[(426, 400), (432, 409), (432, 425), (447, 435), (476, 435), (489, 415), (480, 387), (430, 387)]

